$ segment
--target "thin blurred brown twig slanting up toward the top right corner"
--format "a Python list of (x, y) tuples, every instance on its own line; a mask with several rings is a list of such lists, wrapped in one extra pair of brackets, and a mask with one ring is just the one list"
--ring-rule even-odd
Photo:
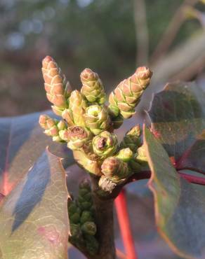
[(157, 48), (154, 50), (150, 62), (153, 64), (157, 59), (163, 57), (173, 42), (178, 30), (183, 24), (186, 16), (184, 15), (184, 8), (186, 6), (194, 6), (199, 0), (185, 0), (181, 6), (176, 10), (176, 13), (173, 15), (171, 22), (169, 23), (167, 29), (164, 31), (164, 34), (159, 40)]

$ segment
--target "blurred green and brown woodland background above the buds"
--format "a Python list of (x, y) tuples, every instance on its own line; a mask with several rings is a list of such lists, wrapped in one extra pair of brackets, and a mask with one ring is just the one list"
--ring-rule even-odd
[(204, 11), (199, 0), (1, 0), (0, 116), (49, 109), (46, 55), (74, 88), (85, 67), (97, 71), (107, 93), (136, 66), (150, 66), (142, 111), (167, 80), (203, 81)]

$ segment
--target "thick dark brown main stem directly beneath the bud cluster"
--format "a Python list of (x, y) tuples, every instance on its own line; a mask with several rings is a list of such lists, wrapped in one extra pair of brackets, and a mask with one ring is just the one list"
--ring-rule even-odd
[[(98, 188), (98, 180), (91, 176), (93, 190)], [(115, 259), (114, 246), (114, 200), (102, 200), (95, 191), (93, 192), (96, 223), (98, 228), (98, 240), (100, 244), (98, 255), (91, 259)]]

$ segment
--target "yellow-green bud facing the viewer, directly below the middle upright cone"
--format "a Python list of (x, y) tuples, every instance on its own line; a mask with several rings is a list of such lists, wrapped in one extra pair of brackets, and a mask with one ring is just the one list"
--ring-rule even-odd
[(84, 115), (86, 126), (98, 135), (110, 127), (110, 116), (105, 106), (91, 105), (86, 109)]

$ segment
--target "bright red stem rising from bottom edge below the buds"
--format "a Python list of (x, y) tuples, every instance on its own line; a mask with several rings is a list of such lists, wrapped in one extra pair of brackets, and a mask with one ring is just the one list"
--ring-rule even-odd
[(131, 225), (126, 204), (126, 192), (124, 189), (121, 190), (121, 193), (119, 193), (115, 199), (115, 207), (117, 210), (117, 218), (119, 221), (119, 228), (126, 251), (126, 256), (128, 259), (138, 259), (138, 256), (135, 252), (133, 236), (131, 233)]

